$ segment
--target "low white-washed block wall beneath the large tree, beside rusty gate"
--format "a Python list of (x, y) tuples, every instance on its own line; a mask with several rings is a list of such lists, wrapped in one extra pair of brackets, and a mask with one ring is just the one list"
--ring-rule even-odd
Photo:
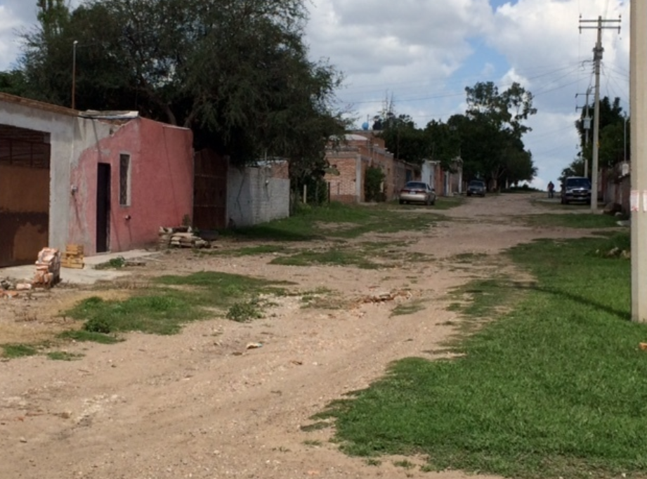
[(290, 182), (272, 178), (270, 169), (230, 167), (227, 178), (227, 221), (236, 227), (289, 216)]

